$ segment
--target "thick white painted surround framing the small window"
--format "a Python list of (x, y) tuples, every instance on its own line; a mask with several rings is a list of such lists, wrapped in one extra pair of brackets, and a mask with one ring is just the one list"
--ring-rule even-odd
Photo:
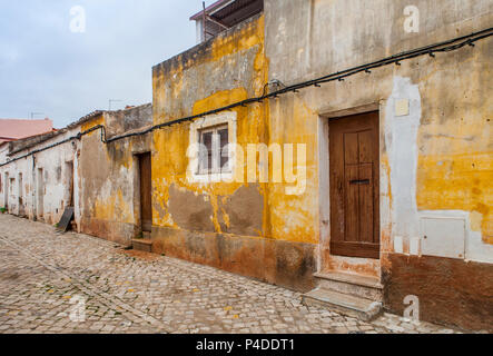
[[(188, 179), (193, 182), (217, 182), (224, 180), (231, 180), (235, 171), (235, 151), (236, 146), (236, 111), (225, 111), (218, 115), (210, 115), (190, 125), (190, 147), (196, 147), (191, 156), (189, 156), (190, 165), (187, 172)], [(228, 129), (228, 145), (229, 145), (229, 159), (228, 167), (217, 167), (217, 159), (214, 156), (220, 155), (219, 135), (213, 135), (213, 167), (209, 167), (208, 171), (199, 171), (199, 150), (200, 135), (207, 131), (217, 131), (218, 129)], [(218, 161), (220, 162), (220, 156)]]

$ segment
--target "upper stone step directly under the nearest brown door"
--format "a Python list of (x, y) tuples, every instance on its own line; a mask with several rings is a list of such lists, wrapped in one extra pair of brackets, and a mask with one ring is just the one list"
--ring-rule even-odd
[(318, 273), (315, 277), (321, 288), (372, 301), (383, 301), (383, 285), (378, 278), (338, 271)]

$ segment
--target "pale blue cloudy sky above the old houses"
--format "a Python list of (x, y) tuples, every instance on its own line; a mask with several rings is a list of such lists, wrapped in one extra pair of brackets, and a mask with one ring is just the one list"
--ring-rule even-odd
[[(206, 3), (209, 4), (209, 0)], [(86, 12), (81, 29), (80, 6)], [(151, 67), (195, 46), (201, 0), (0, 0), (0, 118), (62, 128), (152, 100)]]

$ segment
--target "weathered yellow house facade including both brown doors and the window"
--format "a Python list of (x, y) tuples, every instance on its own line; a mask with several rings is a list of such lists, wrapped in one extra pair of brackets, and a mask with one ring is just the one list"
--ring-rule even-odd
[(401, 0), (219, 2), (255, 11), (155, 66), (152, 106), (80, 123), (79, 230), (492, 330), (491, 1), (414, 1), (417, 31)]

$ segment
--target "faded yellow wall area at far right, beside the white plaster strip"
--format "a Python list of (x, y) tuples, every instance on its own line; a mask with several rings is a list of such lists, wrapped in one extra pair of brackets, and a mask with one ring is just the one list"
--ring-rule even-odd
[(484, 57), (487, 46), (480, 43), (447, 70), (448, 76), (436, 65), (425, 78), (431, 85), (424, 86), (423, 96), (431, 105), (420, 135), (416, 200), (421, 210), (470, 211), (471, 229), (493, 244), (493, 99), (487, 95), (493, 85), (491, 61)]

